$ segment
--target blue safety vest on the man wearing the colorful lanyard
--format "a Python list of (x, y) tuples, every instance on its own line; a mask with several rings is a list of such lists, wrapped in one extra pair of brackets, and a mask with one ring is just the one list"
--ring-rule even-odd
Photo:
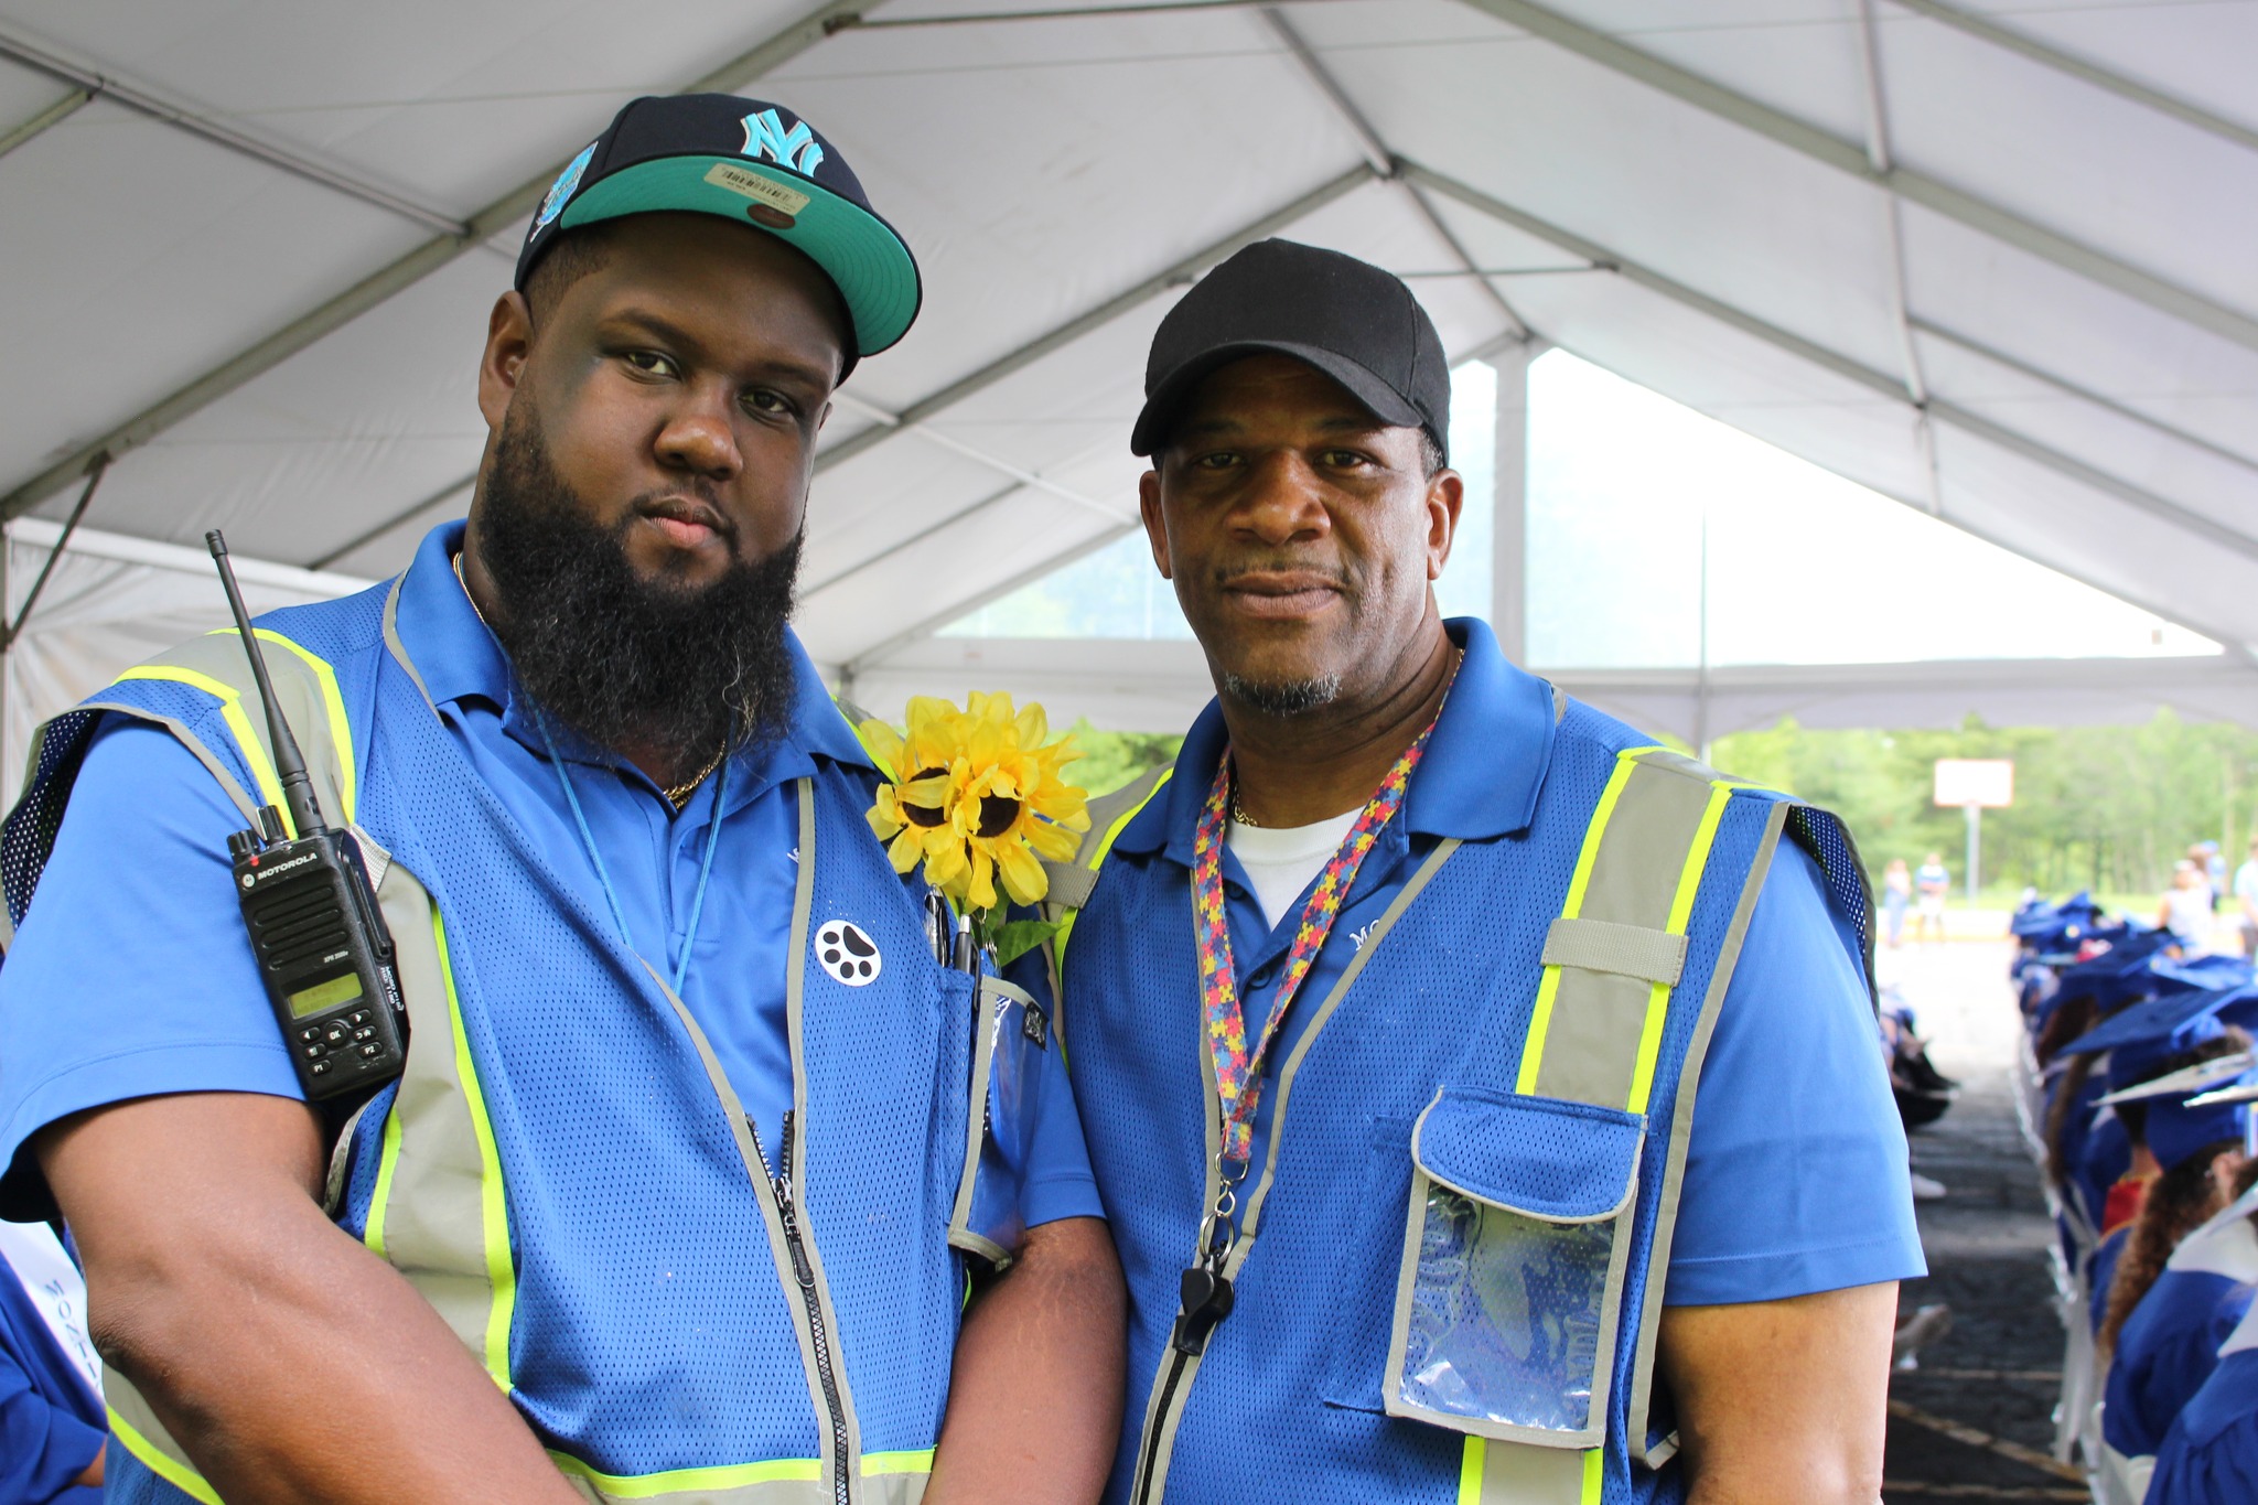
[(1084, 896), (1059, 1020), (1075, 1092), (1086, 1121), (1140, 1124), (1091, 1135), (1136, 1311), (1134, 1505), (1682, 1498), (1655, 1331), (1709, 1029), (1782, 833), (1824, 871), (1870, 991), (1872, 900), (1824, 810), (1563, 695), (1556, 718), (1529, 828), (1438, 842), (1296, 1004), (1237, 1191), (1235, 1309), (1201, 1356), (1167, 1343), (1219, 1191), (1190, 887), (1115, 855)]

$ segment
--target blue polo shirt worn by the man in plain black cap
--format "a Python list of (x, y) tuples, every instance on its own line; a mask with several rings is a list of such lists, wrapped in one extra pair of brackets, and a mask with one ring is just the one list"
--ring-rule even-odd
[[(1447, 630), (1465, 659), (1443, 718), (1402, 810), (1364, 857), (1332, 936), (1264, 1058), (1255, 1167), (1269, 1146), (1278, 1070), (1418, 862), (1445, 837), (1497, 839), (1526, 828), (1535, 812), (1551, 765), (1551, 686), (1508, 663), (1479, 618), (1452, 618)], [(1165, 882), (1185, 882), (1201, 803), (1226, 742), (1222, 709), (1210, 702), (1183, 740), (1176, 774), (1122, 828), (1113, 851), (1158, 853), (1170, 864)], [(1224, 896), (1253, 1042), (1278, 1000), (1310, 894), (1271, 925), (1226, 846)], [(1671, 1306), (1763, 1302), (1926, 1275), (1906, 1133), (1876, 1047), (1874, 1006), (1847, 941), (1818, 864), (1782, 839), (1700, 1070), (1664, 1288)], [(1100, 961), (1088, 954), (1073, 961), (1077, 970), (1093, 963)], [(1416, 963), (1380, 952), (1373, 966)], [(1152, 1004), (1197, 1006), (1197, 1000)], [(1066, 1029), (1073, 1040), (1073, 1013)], [(1136, 1126), (1093, 1126), (1100, 1139), (1122, 1133)], [(1165, 1257), (1181, 1259), (1181, 1250)]]

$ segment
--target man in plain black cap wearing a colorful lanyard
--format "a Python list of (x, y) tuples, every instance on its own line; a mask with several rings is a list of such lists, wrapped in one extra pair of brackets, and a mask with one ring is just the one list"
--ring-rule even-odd
[(1441, 618), (1447, 442), (1377, 266), (1262, 241), (1154, 336), (1215, 702), (1061, 959), (1106, 1498), (1870, 1503), (1922, 1250), (1856, 855)]

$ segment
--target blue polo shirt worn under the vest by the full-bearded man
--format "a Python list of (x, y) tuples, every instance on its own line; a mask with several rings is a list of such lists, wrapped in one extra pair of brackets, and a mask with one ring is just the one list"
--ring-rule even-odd
[[(592, 912), (610, 914), (558, 763), (454, 575), (461, 535), (463, 523), (445, 523), (425, 537), (400, 587), (400, 641), (479, 778), (549, 848), (555, 871), (583, 884)], [(784, 1002), (799, 860), (793, 781), (876, 776), (797, 639), (790, 648), (797, 699), (784, 733), (732, 754), (727, 781), (707, 778), (680, 815), (641, 769), (549, 724), (628, 943), (668, 979), (689, 945), (682, 1002), (770, 1158), (793, 1103)], [(720, 846), (691, 936), (716, 819)], [(303, 1097), (235, 903), (228, 833), (242, 824), (169, 731), (111, 715), (93, 736), (38, 896), (0, 968), (0, 1203), (34, 1194), (38, 1167), (25, 1142), (63, 1115), (160, 1092)], [(1043, 1054), (1043, 1072), (1027, 1097), (1030, 1227), (1100, 1216), (1057, 1051)]]

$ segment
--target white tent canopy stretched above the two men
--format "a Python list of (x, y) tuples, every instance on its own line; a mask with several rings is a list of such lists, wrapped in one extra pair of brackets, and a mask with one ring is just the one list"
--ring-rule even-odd
[(1292, 235), (1443, 273), (1502, 413), (1554, 343), (2229, 650), (1572, 688), (1682, 733), (2258, 722), (2258, 5), (989, 5), (0, 0), (0, 514), (99, 469), (93, 528), (397, 569), (465, 505), (485, 309), (562, 158), (732, 88), (817, 120), (926, 271), (808, 523), (802, 636), (874, 709), (980, 654), (1061, 715), (1183, 720), (1185, 645), (933, 632), (1134, 526), (1154, 323)]

